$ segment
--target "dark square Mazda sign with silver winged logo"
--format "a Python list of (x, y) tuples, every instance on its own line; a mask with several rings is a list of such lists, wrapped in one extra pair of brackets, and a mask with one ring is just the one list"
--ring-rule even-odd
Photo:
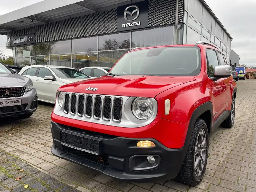
[(148, 27), (148, 0), (117, 7), (117, 30)]

